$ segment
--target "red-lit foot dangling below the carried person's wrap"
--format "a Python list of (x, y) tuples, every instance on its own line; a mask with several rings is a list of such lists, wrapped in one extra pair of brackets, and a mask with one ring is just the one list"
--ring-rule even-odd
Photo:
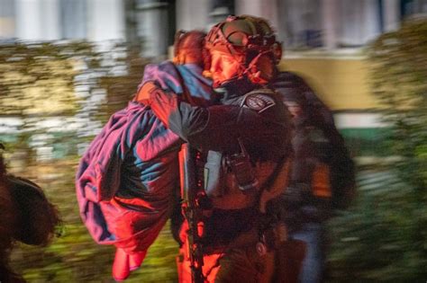
[(146, 254), (147, 251), (128, 253), (121, 248), (117, 248), (113, 262), (114, 280), (121, 282), (124, 279), (127, 279), (131, 274), (131, 271), (140, 268)]

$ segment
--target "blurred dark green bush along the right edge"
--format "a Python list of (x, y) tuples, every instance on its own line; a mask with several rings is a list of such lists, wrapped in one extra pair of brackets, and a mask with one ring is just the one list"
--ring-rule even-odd
[(427, 279), (427, 21), (405, 22), (368, 48), (372, 92), (399, 158), (359, 174), (359, 199), (333, 219), (330, 280)]

